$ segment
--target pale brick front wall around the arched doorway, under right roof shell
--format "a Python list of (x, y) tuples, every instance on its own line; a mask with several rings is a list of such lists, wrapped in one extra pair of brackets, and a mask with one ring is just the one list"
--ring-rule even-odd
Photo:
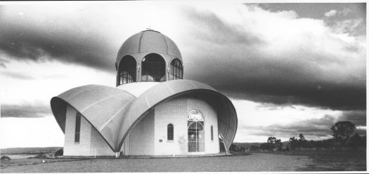
[[(198, 110), (204, 116), (205, 152), (188, 152), (187, 116), (193, 109)], [(167, 140), (169, 123), (174, 125), (173, 141)], [(214, 140), (210, 137), (210, 126), (214, 129)], [(217, 130), (216, 110), (207, 102), (189, 96), (164, 102), (155, 107), (155, 155), (219, 153)]]

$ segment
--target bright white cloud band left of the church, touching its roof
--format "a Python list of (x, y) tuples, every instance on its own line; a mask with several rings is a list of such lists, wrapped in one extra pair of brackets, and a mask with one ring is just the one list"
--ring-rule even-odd
[(0, 69), (1, 103), (6, 105), (49, 105), (53, 96), (70, 88), (115, 85), (114, 75), (81, 65), (9, 60), (6, 66)]

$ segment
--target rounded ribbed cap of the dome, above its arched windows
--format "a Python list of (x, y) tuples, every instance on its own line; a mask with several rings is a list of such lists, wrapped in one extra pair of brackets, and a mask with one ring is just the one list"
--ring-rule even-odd
[(117, 60), (120, 60), (124, 55), (134, 53), (160, 53), (182, 60), (181, 52), (174, 41), (151, 29), (134, 34), (124, 41), (119, 49)]

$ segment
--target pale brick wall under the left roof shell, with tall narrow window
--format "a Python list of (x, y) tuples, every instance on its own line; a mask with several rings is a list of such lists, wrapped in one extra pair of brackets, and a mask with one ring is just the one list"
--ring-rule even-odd
[(114, 152), (91, 124), (81, 117), (79, 143), (75, 142), (77, 111), (67, 105), (64, 156), (113, 156)]

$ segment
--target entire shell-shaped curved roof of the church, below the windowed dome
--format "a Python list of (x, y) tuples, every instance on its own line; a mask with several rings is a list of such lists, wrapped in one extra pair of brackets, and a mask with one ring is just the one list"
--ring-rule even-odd
[[(135, 90), (135, 87), (139, 87), (139, 90)], [(131, 93), (135, 93), (138, 97)], [(114, 152), (119, 152), (127, 135), (151, 109), (162, 102), (186, 94), (211, 98), (219, 110), (219, 135), (224, 138), (228, 149), (237, 131), (238, 119), (235, 108), (225, 95), (198, 81), (140, 82), (124, 84), (118, 88), (98, 85), (80, 86), (53, 97), (51, 110), (64, 132), (66, 107), (70, 105), (75, 108), (93, 128), (96, 128), (110, 148)]]

